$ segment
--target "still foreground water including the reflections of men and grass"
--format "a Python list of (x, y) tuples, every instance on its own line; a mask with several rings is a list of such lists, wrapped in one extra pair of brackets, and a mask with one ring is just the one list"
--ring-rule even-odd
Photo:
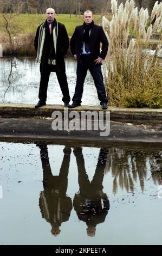
[(161, 244), (161, 151), (0, 148), (1, 245)]

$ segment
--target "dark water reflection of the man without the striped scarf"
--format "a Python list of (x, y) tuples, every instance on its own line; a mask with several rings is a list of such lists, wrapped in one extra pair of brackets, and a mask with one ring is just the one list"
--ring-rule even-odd
[(74, 148), (80, 191), (74, 196), (73, 206), (79, 220), (86, 222), (88, 236), (95, 236), (96, 225), (105, 221), (109, 210), (109, 200), (102, 186), (107, 154), (108, 149), (100, 149), (95, 174), (90, 182), (85, 169), (82, 148)]

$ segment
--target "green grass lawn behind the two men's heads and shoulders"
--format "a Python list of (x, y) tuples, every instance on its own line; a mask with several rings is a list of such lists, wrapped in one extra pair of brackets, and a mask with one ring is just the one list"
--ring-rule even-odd
[[(44, 20), (46, 20), (46, 16), (44, 14), (5, 14), (8, 15), (9, 25), (12, 27), (11, 31), (15, 33), (35, 33), (36, 28), (40, 25)], [(94, 21), (99, 25), (101, 24), (100, 15), (94, 15)], [(56, 20), (63, 23), (66, 26), (68, 35), (72, 35), (76, 26), (81, 25), (83, 23), (82, 15), (75, 16), (72, 15), (70, 17), (69, 14), (60, 14), (56, 15)], [(4, 19), (0, 16), (0, 32), (4, 31), (3, 23)]]

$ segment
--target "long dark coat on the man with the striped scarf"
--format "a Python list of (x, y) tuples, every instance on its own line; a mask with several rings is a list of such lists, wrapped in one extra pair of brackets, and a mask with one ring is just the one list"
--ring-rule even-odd
[[(39, 36), (41, 25), (38, 26), (37, 28), (37, 32), (34, 40), (34, 46), (35, 46), (36, 52), (38, 47), (38, 36)], [(54, 20), (52, 31), (53, 31), (54, 25), (56, 25), (56, 20)], [(48, 58), (50, 58), (51, 47), (53, 47), (53, 50), (54, 50), (53, 33), (51, 33), (50, 35), (47, 21), (44, 23), (44, 27), (45, 27), (46, 36), (44, 40), (40, 71), (46, 71), (49, 69)], [(58, 22), (58, 30), (59, 32), (58, 32), (57, 44), (56, 44), (56, 56), (55, 56), (56, 70), (55, 71), (62, 72), (62, 71), (65, 71), (64, 54), (67, 53), (69, 48), (69, 37), (66, 31), (66, 27), (60, 22)], [(54, 52), (54, 55), (55, 55), (55, 52)]]

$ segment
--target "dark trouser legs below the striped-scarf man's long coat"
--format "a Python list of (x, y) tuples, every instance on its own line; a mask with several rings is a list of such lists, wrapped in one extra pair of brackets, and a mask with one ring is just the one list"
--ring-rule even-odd
[[(39, 90), (39, 99), (40, 101), (46, 102), (47, 100), (47, 87), (49, 81), (50, 71), (41, 71), (41, 81), (40, 81), (40, 90)], [(56, 72), (57, 80), (60, 84), (61, 92), (63, 94), (62, 101), (69, 102), (69, 88), (67, 83), (66, 72)]]

